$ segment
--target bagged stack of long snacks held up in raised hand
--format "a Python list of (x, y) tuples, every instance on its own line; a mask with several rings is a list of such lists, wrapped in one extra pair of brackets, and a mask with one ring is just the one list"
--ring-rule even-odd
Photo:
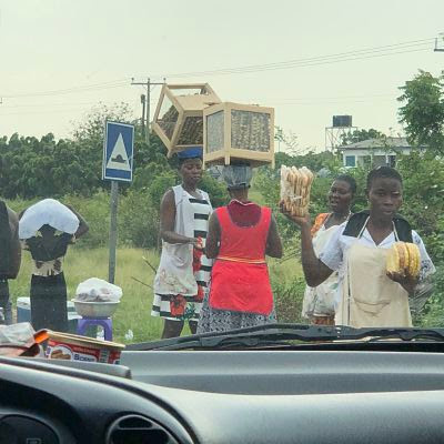
[(314, 174), (306, 167), (281, 167), (281, 201), (292, 215), (303, 218), (309, 213), (313, 179)]

